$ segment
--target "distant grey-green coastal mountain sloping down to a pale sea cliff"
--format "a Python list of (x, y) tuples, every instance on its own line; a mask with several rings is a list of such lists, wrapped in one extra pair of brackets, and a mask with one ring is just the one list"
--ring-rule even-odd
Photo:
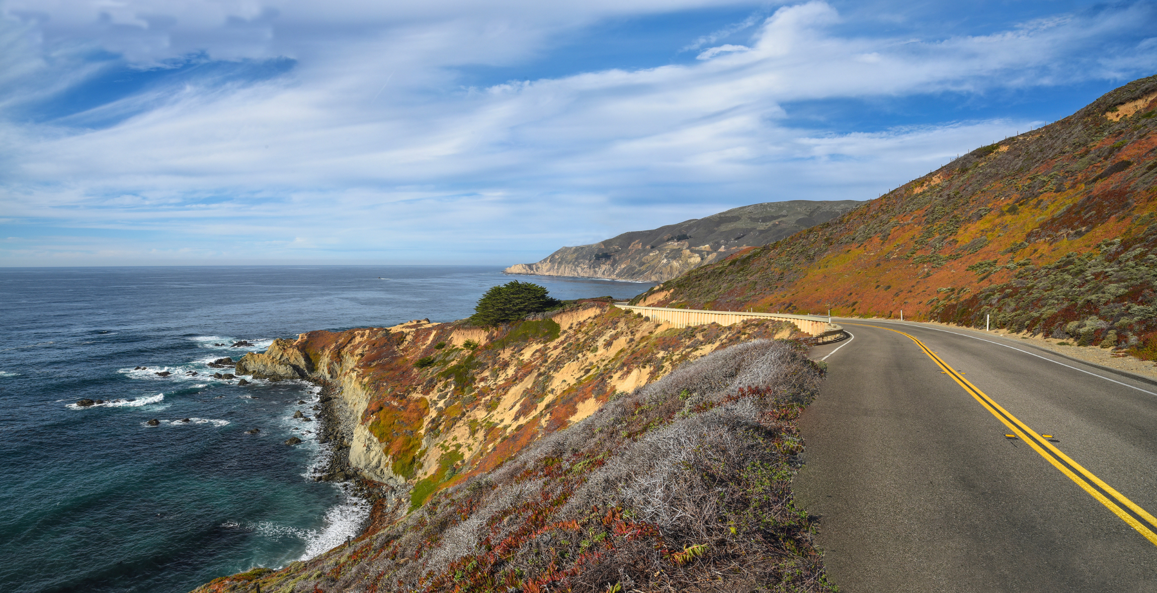
[(624, 232), (594, 245), (562, 247), (537, 264), (510, 266), (506, 273), (662, 282), (744, 247), (772, 243), (827, 222), (861, 203), (754, 203), (653, 230)]

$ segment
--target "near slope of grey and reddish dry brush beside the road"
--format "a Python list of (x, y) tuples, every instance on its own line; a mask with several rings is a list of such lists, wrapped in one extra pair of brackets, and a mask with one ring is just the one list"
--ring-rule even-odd
[(796, 342), (710, 354), (261, 591), (835, 591), (790, 488), (820, 377)]

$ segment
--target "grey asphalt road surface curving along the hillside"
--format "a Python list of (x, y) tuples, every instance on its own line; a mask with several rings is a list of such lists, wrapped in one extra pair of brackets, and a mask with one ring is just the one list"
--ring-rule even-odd
[[(1053, 435), (1052, 446), (1142, 513), (1157, 513), (1157, 386), (982, 332), (837, 323), (855, 338), (813, 351), (834, 354), (801, 418), (806, 466), (795, 491), (821, 517), (819, 544), (840, 591), (1157, 592), (1157, 544), (1024, 438), (1007, 438), (1012, 430), (951, 372)], [(922, 341), (949, 371), (885, 327)], [(1147, 527), (1143, 514), (1122, 512)]]

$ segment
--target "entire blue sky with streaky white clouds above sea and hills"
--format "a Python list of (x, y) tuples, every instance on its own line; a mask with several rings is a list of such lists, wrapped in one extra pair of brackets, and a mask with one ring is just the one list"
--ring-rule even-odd
[(1154, 2), (0, 0), (0, 266), (536, 261), (1155, 73)]

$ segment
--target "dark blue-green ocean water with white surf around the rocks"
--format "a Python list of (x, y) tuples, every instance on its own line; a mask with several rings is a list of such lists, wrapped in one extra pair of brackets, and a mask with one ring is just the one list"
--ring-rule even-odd
[[(558, 298), (651, 286), (515, 277)], [(290, 421), (310, 415), (316, 388), (238, 386), (206, 363), (311, 329), (460, 319), (510, 279), (480, 266), (0, 268), (0, 591), (185, 592), (345, 541), (368, 509), (311, 480), (329, 445)], [(120, 401), (75, 405), (86, 398)]]

